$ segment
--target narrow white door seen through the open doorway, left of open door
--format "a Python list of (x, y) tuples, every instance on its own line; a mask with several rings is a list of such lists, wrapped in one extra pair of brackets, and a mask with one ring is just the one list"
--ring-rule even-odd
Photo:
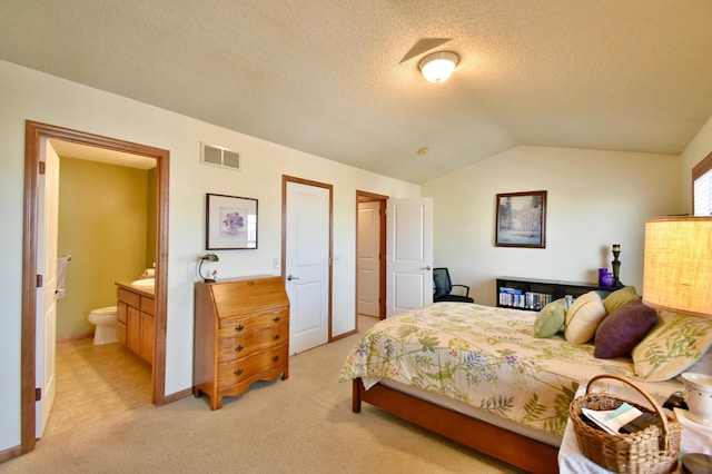
[(362, 315), (380, 316), (380, 203), (358, 205), (356, 241), (356, 310)]

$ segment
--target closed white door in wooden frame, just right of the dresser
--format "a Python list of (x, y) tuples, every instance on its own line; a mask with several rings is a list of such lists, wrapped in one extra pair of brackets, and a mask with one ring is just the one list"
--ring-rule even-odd
[(328, 343), (330, 190), (287, 182), (285, 275), (289, 353)]

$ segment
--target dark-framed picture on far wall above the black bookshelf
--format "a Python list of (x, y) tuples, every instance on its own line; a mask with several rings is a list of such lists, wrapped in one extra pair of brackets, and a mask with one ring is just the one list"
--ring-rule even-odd
[(546, 248), (546, 191), (497, 195), (495, 246)]

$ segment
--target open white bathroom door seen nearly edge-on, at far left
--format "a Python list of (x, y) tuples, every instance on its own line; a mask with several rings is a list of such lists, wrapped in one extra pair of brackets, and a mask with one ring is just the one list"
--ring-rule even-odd
[(42, 138), (40, 157), (44, 161), (44, 174), (38, 186), (38, 238), (37, 273), (42, 276), (42, 286), (37, 288), (36, 377), (41, 388), (41, 398), (36, 405), (36, 437), (41, 437), (57, 391), (56, 340), (57, 340), (57, 227), (59, 211), (59, 156)]

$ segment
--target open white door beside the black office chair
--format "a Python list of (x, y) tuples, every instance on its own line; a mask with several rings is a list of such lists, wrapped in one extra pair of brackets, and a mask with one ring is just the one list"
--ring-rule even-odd
[(388, 199), (387, 316), (433, 303), (433, 199)]

